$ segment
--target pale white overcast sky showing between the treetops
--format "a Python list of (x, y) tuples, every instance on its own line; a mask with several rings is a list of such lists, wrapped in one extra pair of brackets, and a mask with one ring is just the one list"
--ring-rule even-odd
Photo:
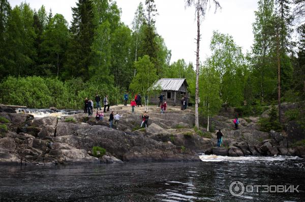
[[(21, 0), (9, 0), (12, 7), (19, 5)], [(75, 0), (27, 0), (31, 8), (38, 10), (44, 5), (52, 13), (60, 13), (70, 23), (71, 7)], [(132, 27), (131, 22), (139, 3), (144, 0), (116, 0), (121, 8), (121, 21)], [(184, 0), (155, 0), (158, 16), (156, 17), (157, 32), (164, 38), (165, 44), (171, 50), (171, 63), (184, 59), (187, 63), (196, 64), (197, 23), (194, 7), (185, 8)], [(255, 21), (254, 11), (257, 10), (257, 0), (219, 0), (222, 7), (215, 13), (215, 7), (207, 10), (201, 23), (200, 61), (210, 56), (209, 43), (213, 31), (229, 34), (235, 43), (242, 48), (243, 53), (250, 51), (253, 44), (252, 23)]]

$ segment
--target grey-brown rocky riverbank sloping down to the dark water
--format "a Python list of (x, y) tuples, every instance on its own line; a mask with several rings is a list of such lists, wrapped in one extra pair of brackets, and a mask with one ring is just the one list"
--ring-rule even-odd
[[(261, 132), (257, 118), (250, 123), (240, 119), (240, 129), (232, 130), (231, 119), (216, 116), (211, 119), (215, 128), (222, 128), (224, 147), (216, 148), (216, 136), (202, 128), (194, 131), (191, 109), (180, 111), (169, 107), (165, 114), (151, 107), (149, 127), (139, 129), (144, 107), (130, 113), (130, 107), (116, 106), (111, 110), (124, 116), (110, 129), (109, 113), (104, 121), (96, 122), (84, 113), (57, 117), (34, 117), (12, 113), (2, 108), (0, 117), (8, 120), (0, 138), (1, 163), (122, 163), (127, 161), (199, 161), (198, 153), (223, 156), (305, 157), (305, 148), (293, 146), (287, 134)], [(203, 135), (202, 135), (203, 134)], [(207, 135), (208, 134), (208, 135)], [(208, 137), (208, 138), (207, 138)], [(106, 149), (102, 157), (93, 155), (93, 147)]]

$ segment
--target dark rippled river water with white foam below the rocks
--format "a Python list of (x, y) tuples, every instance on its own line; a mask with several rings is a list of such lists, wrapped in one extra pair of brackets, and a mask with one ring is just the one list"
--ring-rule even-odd
[[(202, 156), (196, 163), (0, 165), (0, 201), (305, 201), (305, 161), (296, 157)], [(266, 185), (272, 192), (242, 186)], [(235, 183), (235, 184), (234, 184)], [(297, 191), (274, 193), (270, 185)], [(239, 192), (238, 189), (239, 188)], [(234, 191), (235, 190), (235, 191)]]

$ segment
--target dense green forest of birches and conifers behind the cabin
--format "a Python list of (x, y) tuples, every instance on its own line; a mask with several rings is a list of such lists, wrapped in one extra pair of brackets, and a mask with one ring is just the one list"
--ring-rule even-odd
[[(75, 109), (98, 93), (117, 104), (126, 91), (149, 94), (159, 78), (187, 78), (194, 100), (194, 66), (184, 59), (170, 63), (154, 0), (139, 4), (132, 27), (120, 20), (115, 1), (79, 0), (70, 23), (44, 6), (0, 2), (0, 103)], [(200, 61), (200, 111), (273, 103), (278, 76), (281, 101), (304, 100), (304, 15), (303, 0), (259, 0), (246, 54), (228, 34), (201, 39), (210, 40), (212, 54)]]

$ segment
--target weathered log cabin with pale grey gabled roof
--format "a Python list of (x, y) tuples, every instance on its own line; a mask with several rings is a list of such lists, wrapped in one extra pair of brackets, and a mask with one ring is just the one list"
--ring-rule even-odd
[[(158, 80), (154, 86), (161, 86), (163, 101), (168, 105), (180, 105), (182, 97), (189, 97), (188, 83), (185, 78), (162, 78)], [(159, 103), (159, 95), (150, 96), (150, 104)]]

